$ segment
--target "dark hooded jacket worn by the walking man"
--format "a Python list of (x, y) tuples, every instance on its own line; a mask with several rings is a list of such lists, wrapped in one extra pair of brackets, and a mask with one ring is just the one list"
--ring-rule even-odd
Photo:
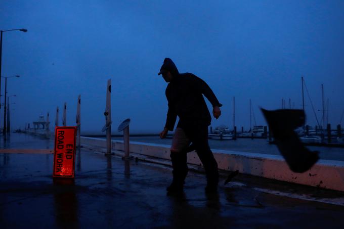
[(179, 73), (176, 65), (169, 58), (165, 58), (161, 70), (167, 70), (173, 75), (166, 87), (168, 112), (165, 127), (173, 131), (179, 117), (178, 127), (203, 125), (208, 126), (211, 116), (203, 95), (213, 107), (221, 107), (218, 99), (202, 79), (192, 73)]

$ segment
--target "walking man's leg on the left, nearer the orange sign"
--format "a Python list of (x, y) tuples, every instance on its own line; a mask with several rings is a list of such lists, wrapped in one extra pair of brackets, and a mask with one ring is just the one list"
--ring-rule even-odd
[(184, 180), (188, 174), (186, 148), (190, 145), (190, 140), (181, 128), (177, 128), (171, 146), (171, 162), (173, 167), (173, 181), (167, 191), (183, 190)]

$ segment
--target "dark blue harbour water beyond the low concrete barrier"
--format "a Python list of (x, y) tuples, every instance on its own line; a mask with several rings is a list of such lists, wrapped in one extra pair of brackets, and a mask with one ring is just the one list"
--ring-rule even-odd
[[(112, 138), (113, 140), (123, 140), (123, 138)], [(158, 136), (131, 137), (130, 141), (171, 145), (172, 139), (160, 139)], [(248, 153), (280, 155), (276, 145), (269, 144), (266, 139), (237, 139), (219, 141), (209, 139), (211, 149), (241, 151)], [(320, 152), (320, 159), (344, 161), (344, 148), (336, 147), (307, 147), (312, 151)]]

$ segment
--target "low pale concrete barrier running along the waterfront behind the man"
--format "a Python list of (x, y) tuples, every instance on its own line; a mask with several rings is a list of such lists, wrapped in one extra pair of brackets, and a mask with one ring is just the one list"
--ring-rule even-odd
[[(105, 139), (81, 137), (82, 145), (106, 147)], [(130, 152), (169, 160), (169, 145), (131, 142)], [(112, 141), (112, 149), (123, 151), (123, 141)], [(239, 170), (254, 176), (288, 181), (296, 184), (314, 186), (337, 191), (344, 191), (344, 162), (319, 160), (310, 170), (304, 173), (292, 172), (282, 156), (256, 154), (237, 151), (212, 149), (219, 169)], [(202, 165), (197, 154), (188, 154), (188, 163)]]

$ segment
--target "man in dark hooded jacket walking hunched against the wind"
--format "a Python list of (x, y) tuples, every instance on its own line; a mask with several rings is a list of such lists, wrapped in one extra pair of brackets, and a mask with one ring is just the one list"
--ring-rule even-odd
[(173, 181), (166, 190), (183, 191), (184, 180), (188, 173), (187, 152), (191, 151), (189, 145), (192, 143), (192, 148), (196, 150), (206, 172), (205, 191), (216, 191), (219, 182), (218, 163), (208, 145), (208, 126), (211, 116), (203, 95), (211, 103), (213, 116), (217, 119), (221, 115), (222, 104), (202, 79), (192, 73), (179, 73), (175, 63), (169, 58), (164, 59), (158, 75), (160, 74), (168, 83), (165, 92), (168, 102), (167, 119), (160, 138), (165, 138), (168, 130), (174, 130), (177, 116), (179, 117), (170, 149)]

